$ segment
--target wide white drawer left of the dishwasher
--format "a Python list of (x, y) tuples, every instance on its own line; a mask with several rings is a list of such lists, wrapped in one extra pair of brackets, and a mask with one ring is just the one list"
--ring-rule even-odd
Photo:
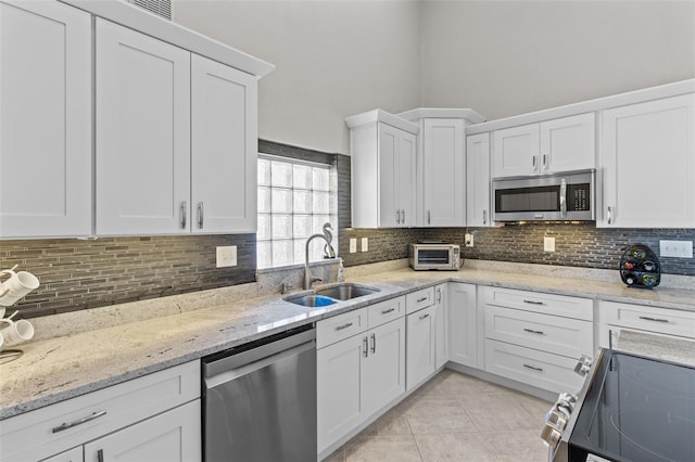
[(2, 421), (0, 460), (40, 460), (197, 398), (200, 362), (191, 361), (37, 409)]

